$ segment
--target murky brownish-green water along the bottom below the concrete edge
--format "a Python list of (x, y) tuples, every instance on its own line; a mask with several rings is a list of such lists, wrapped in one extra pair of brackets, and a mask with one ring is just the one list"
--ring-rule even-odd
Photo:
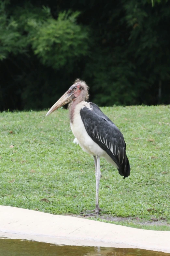
[(0, 238), (0, 256), (170, 256), (169, 253), (112, 247), (66, 246)]

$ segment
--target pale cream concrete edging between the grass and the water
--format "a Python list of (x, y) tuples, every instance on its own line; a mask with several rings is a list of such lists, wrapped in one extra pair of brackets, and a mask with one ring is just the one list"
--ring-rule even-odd
[(170, 231), (134, 229), (10, 206), (0, 206), (0, 236), (54, 244), (141, 248), (170, 253)]

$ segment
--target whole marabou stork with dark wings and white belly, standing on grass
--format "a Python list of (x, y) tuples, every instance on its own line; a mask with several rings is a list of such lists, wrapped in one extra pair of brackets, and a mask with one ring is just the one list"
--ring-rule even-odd
[(95, 209), (81, 214), (98, 216), (102, 211), (99, 207), (100, 158), (104, 157), (107, 162), (115, 166), (124, 179), (130, 175), (130, 164), (122, 133), (96, 104), (88, 101), (88, 91), (86, 82), (76, 79), (46, 116), (69, 103), (70, 127), (75, 136), (74, 143), (77, 143), (84, 152), (93, 155), (95, 165)]

